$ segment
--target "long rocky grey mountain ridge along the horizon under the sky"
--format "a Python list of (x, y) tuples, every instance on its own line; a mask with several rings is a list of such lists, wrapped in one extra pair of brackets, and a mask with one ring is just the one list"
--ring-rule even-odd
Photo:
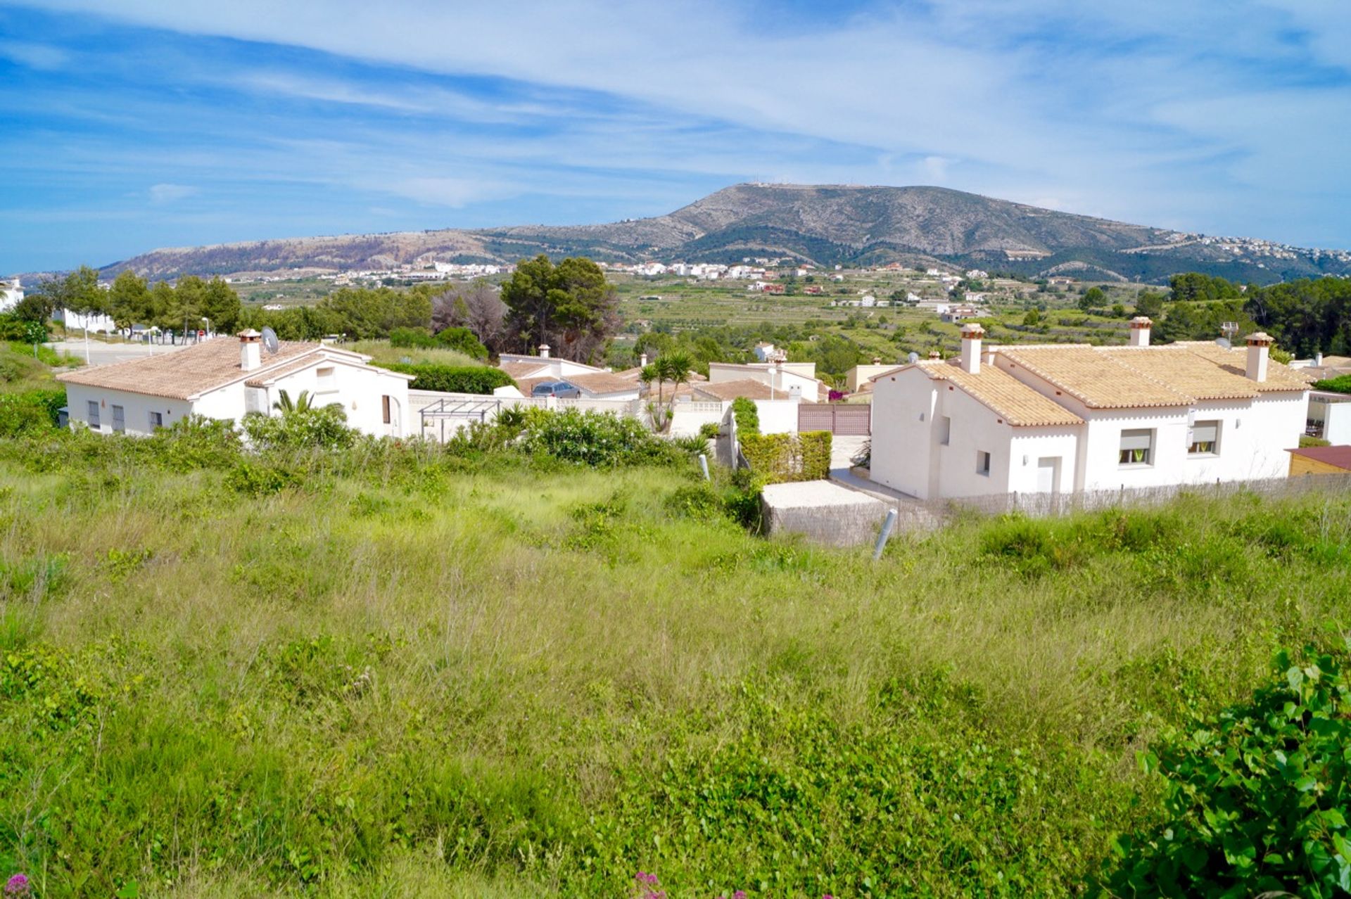
[(299, 238), (155, 250), (108, 266), (146, 275), (389, 269), (584, 254), (611, 262), (792, 256), (817, 265), (975, 265), (1019, 274), (1239, 281), (1351, 273), (1351, 254), (1093, 219), (946, 188), (742, 184), (653, 219), (613, 224)]

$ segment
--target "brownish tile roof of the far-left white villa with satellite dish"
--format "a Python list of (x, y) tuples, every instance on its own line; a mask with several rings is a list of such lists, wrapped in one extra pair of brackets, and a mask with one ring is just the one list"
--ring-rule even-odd
[[(239, 342), (216, 337), (185, 350), (158, 356), (113, 362), (107, 366), (77, 369), (57, 375), (65, 383), (126, 390), (150, 397), (190, 400), (246, 377), (263, 378), (299, 356), (319, 352), (317, 343), (282, 342), (276, 354), (262, 354), (262, 367), (246, 373), (239, 367)], [(354, 356), (361, 358), (361, 356)]]

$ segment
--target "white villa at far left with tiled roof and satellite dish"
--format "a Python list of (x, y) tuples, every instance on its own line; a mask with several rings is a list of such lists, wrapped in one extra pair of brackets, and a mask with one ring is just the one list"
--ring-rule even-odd
[(263, 351), (262, 335), (218, 337), (155, 356), (77, 369), (66, 385), (72, 424), (103, 433), (153, 433), (189, 414), (239, 421), (249, 412), (273, 414), (285, 390), (308, 390), (315, 405), (338, 402), (349, 427), (376, 436), (413, 433), (412, 375), (367, 364), (370, 356), (319, 343), (282, 342)]

